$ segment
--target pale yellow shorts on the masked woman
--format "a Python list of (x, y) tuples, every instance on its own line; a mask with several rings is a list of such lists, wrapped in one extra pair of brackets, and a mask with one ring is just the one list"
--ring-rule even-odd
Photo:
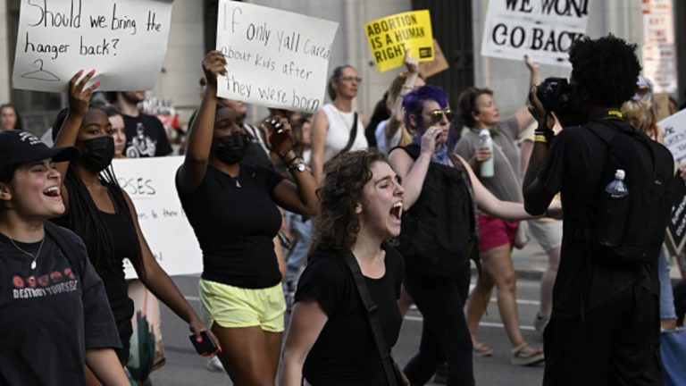
[(200, 279), (197, 291), (207, 327), (217, 323), (224, 328), (259, 326), (270, 332), (282, 332), (284, 329), (286, 301), (281, 283), (271, 288), (252, 290)]

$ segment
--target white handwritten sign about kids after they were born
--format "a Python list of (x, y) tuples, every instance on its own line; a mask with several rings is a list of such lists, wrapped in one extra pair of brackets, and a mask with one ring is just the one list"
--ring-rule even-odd
[(315, 112), (324, 99), (339, 24), (255, 4), (220, 0), (217, 50), (226, 76), (217, 96)]

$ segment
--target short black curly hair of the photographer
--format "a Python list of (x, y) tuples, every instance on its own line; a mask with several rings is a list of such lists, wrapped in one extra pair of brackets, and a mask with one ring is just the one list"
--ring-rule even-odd
[(610, 34), (575, 40), (569, 48), (572, 78), (600, 106), (620, 106), (636, 92), (640, 74), (636, 45)]

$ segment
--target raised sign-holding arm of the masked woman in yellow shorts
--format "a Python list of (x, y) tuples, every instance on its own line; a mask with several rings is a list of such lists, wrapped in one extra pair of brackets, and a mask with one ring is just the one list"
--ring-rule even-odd
[(181, 193), (191, 193), (205, 178), (210, 160), (210, 148), (214, 130), (214, 114), (217, 110), (217, 76), (226, 74), (226, 59), (219, 51), (210, 51), (203, 60), (207, 87), (196, 119), (190, 126), (186, 157), (179, 168), (177, 184)]

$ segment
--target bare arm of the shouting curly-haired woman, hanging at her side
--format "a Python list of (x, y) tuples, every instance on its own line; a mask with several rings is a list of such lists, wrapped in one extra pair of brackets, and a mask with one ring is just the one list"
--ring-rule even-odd
[(289, 334), (283, 348), (282, 386), (303, 384), (303, 365), (329, 317), (314, 299), (296, 303), (290, 318)]

